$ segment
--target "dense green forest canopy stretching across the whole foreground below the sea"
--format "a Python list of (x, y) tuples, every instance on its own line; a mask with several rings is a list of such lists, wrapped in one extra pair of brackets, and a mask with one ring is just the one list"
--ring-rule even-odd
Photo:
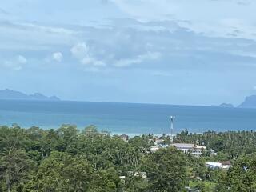
[[(195, 158), (174, 147), (150, 153), (152, 134), (124, 141), (95, 126), (81, 131), (71, 125), (57, 130), (0, 126), (0, 191), (254, 191), (255, 136), (254, 131), (182, 131), (175, 142), (218, 151)], [(221, 160), (234, 166), (211, 170), (205, 165)]]

